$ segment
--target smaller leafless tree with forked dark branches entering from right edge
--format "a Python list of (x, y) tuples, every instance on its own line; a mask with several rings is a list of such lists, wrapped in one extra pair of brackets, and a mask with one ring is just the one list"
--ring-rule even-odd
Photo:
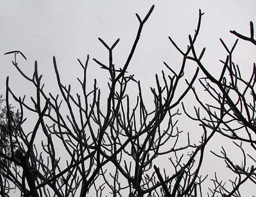
[[(230, 33), (256, 45), (253, 22), (250, 22), (249, 37), (243, 36), (236, 31), (230, 31)], [(223, 69), (218, 79), (213, 77), (203, 63), (201, 63), (200, 57), (198, 58), (195, 52), (194, 45), (192, 45), (192, 57), (190, 57), (205, 74), (205, 77), (199, 81), (204, 90), (209, 93), (212, 102), (203, 102), (203, 99), (199, 98), (197, 90), (192, 88), (192, 91), (208, 117), (200, 116), (204, 114), (200, 112), (200, 108), (195, 108), (196, 117), (189, 115), (184, 105), (183, 109), (189, 117), (199, 121), (204, 130), (215, 131), (234, 140), (233, 143), (238, 149), (238, 152), (240, 150), (243, 155), (241, 164), (238, 164), (237, 161), (232, 161), (229, 154), (225, 151), (225, 147), (222, 147), (220, 153), (212, 153), (225, 161), (227, 168), (236, 174), (236, 178), (229, 180), (229, 187), (225, 181), (219, 180), (215, 174), (215, 178), (212, 179), (214, 187), (210, 189), (210, 196), (220, 194), (223, 197), (241, 197), (239, 188), (242, 184), (247, 180), (256, 184), (256, 160), (252, 156), (253, 152), (256, 151), (256, 65), (253, 63), (251, 76), (245, 80), (241, 76), (239, 66), (232, 61), (232, 54), (238, 44), (238, 39), (230, 49), (222, 39), (220, 39), (220, 42), (226, 49), (228, 55), (226, 56), (226, 60), (220, 60), (223, 64)], [(190, 43), (192, 44), (191, 38)], [(248, 144), (251, 150), (248, 148), (245, 150), (242, 146), (244, 143)]]

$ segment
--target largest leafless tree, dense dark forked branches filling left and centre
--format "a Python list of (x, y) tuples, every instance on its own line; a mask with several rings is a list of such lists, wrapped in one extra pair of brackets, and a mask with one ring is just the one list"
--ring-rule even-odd
[[(11, 162), (11, 165), (7, 165), (0, 160), (1, 196), (8, 197), (14, 189), (18, 190), (20, 196), (23, 197), (84, 197), (90, 195), (99, 197), (105, 193), (109, 193), (113, 197), (127, 196), (127, 194), (129, 194), (129, 197), (203, 196), (201, 183), (206, 177), (201, 177), (199, 170), (206, 144), (216, 132), (232, 138), (220, 129), (221, 124), (229, 125), (229, 120), (225, 119), (227, 116), (231, 116), (239, 122), (245, 119), (241, 119), (241, 117), (244, 117), (243, 113), (236, 108), (240, 105), (239, 102), (231, 103), (233, 101), (229, 98), (228, 91), (238, 92), (238, 90), (231, 85), (227, 85), (228, 83), (224, 78), (226, 69), (228, 68), (229, 73), (232, 73), (230, 77), (234, 84), (238, 81), (246, 82), (238, 77), (240, 75), (237, 74), (237, 70), (232, 70), (232, 66), (229, 65), (229, 59), (231, 61), (231, 53), (234, 49), (229, 52), (218, 81), (212, 80), (213, 77), (201, 65), (201, 58), (205, 49), (202, 50), (199, 57), (197, 57), (194, 50), (203, 15), (200, 10), (195, 34), (189, 36), (190, 42), (186, 51), (182, 51), (169, 37), (171, 43), (183, 56), (182, 65), (179, 72), (174, 72), (164, 62), (170, 73), (162, 72), (161, 77), (155, 75), (156, 88), (151, 88), (154, 109), (149, 110), (144, 104), (140, 81), (136, 80), (134, 75), (129, 74), (127, 68), (135, 52), (142, 29), (153, 9), (154, 5), (143, 19), (136, 14), (139, 22), (137, 36), (122, 68), (115, 67), (112, 54), (115, 46), (119, 43), (119, 39), (110, 46), (99, 38), (101, 44), (109, 52), (108, 63), (93, 59), (110, 76), (110, 81), (108, 81), (109, 95), (105, 100), (105, 97), (101, 97), (101, 90), (97, 87), (96, 79), (94, 80), (93, 89), (87, 90), (86, 72), (89, 66), (89, 55), (87, 55), (85, 63), (78, 59), (83, 71), (83, 78), (77, 78), (82, 88), (82, 94), (72, 94), (71, 86), (64, 85), (54, 57), (53, 64), (60, 95), (53, 95), (52, 93), (48, 95), (44, 90), (44, 84), (42, 84), (42, 75), (37, 72), (37, 61), (35, 62), (34, 73), (32, 77), (29, 77), (29, 75), (22, 72), (17, 62), (19, 54), (26, 59), (25, 55), (19, 51), (6, 53), (14, 54), (13, 65), (27, 81), (34, 85), (37, 96), (36, 98), (30, 98), (33, 103), (31, 106), (25, 96), (21, 99), (10, 89), (9, 78), (7, 77), (6, 102), (9, 124), (5, 128), (9, 134), (11, 153), (6, 154), (1, 151), (0, 157)], [(226, 47), (226, 45), (224, 46)], [(193, 56), (190, 56), (190, 54)], [(190, 80), (185, 80), (187, 87), (179, 95), (177, 89), (180, 82), (183, 81), (185, 65), (187, 61), (191, 60), (198, 63), (199, 67), (195, 69)], [(219, 101), (219, 107), (215, 108), (219, 110), (219, 115), (211, 111), (210, 108), (213, 106), (205, 105), (198, 99), (196, 91), (192, 87), (200, 69), (205, 73), (207, 79), (215, 82), (221, 90), (221, 93), (216, 90), (217, 96), (213, 96), (214, 99)], [(207, 81), (207, 79), (204, 80)], [(137, 86), (136, 103), (130, 101), (127, 91), (127, 87), (132, 83)], [(251, 84), (251, 82), (248, 84)], [(207, 86), (209, 86), (208, 82)], [(204, 87), (207, 89), (207, 86)], [(253, 86), (248, 85), (246, 89), (253, 90)], [(196, 99), (207, 111), (210, 119), (201, 119), (199, 111), (196, 111), (197, 118), (193, 119), (201, 121), (203, 128), (201, 138), (198, 139), (197, 143), (191, 143), (189, 134), (187, 134), (185, 136), (186, 143), (184, 144), (184, 140), (182, 140), (183, 142), (179, 140), (182, 131), (177, 127), (177, 119), (180, 115), (177, 107), (190, 90), (194, 92)], [(209, 89), (207, 90), (211, 93)], [(16, 122), (13, 121), (13, 115), (9, 112), (9, 95), (19, 104), (19, 116)], [(102, 99), (107, 103), (107, 109), (101, 107)], [(254, 104), (251, 108), (248, 105), (247, 110), (249, 108), (253, 110), (253, 107)], [(238, 115), (232, 115), (231, 111)], [(38, 116), (32, 132), (23, 129), (26, 112)], [(185, 113), (187, 114), (186, 111)], [(243, 123), (243, 128), (255, 129), (253, 122)], [(9, 126), (11, 124), (15, 125), (14, 131)], [(229, 127), (227, 128), (229, 129)], [(211, 130), (210, 133), (207, 131), (208, 129)], [(40, 135), (42, 138), (41, 144), (36, 142), (39, 130), (42, 130)], [(235, 133), (236, 129), (232, 131)], [(234, 134), (232, 136), (238, 137)], [(14, 153), (13, 139), (18, 144), (18, 154)], [(250, 138), (248, 140), (242, 138), (241, 141), (254, 142)], [(62, 152), (66, 152), (66, 158), (57, 156), (60, 148), (59, 144), (61, 144)], [(185, 155), (184, 152), (191, 153)], [(158, 167), (157, 158), (163, 155), (168, 158), (167, 170)], [(61, 164), (64, 159), (66, 160), (65, 164)], [(228, 157), (224, 159), (229, 161)], [(231, 163), (230, 161), (229, 164)], [(232, 167), (232, 165), (229, 166)], [(241, 167), (241, 169), (245, 168)], [(245, 170), (244, 174), (248, 177), (247, 179), (254, 179), (254, 168), (252, 169), (249, 172)], [(238, 188), (242, 182), (243, 180), (236, 187)], [(218, 192), (219, 188), (224, 189), (224, 186), (217, 179), (215, 183), (218, 186), (214, 188), (213, 195), (214, 192)], [(237, 190), (234, 188), (233, 193)]]

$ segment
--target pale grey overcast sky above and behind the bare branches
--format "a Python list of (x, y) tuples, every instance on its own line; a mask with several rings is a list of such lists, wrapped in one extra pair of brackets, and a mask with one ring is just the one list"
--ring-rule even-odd
[[(109, 45), (120, 38), (113, 55), (115, 65), (123, 66), (137, 34), (138, 21), (135, 13), (144, 18), (153, 4), (155, 9), (146, 22), (128, 68), (128, 72), (135, 74), (136, 79), (141, 81), (146, 97), (150, 95), (149, 86), (155, 87), (155, 73), (161, 73), (161, 70), (167, 72), (163, 61), (175, 71), (179, 70), (182, 56), (170, 43), (168, 36), (183, 50), (186, 49), (189, 44), (188, 35), (193, 35), (197, 26), (199, 9), (205, 14), (196, 48), (201, 51), (206, 47), (203, 63), (216, 76), (219, 76), (222, 68), (219, 59), (223, 60), (227, 55), (219, 38), (231, 47), (237, 38), (229, 30), (249, 35), (249, 21), (253, 21), (256, 26), (255, 0), (3, 1), (0, 6), (0, 93), (5, 94), (5, 80), (9, 76), (9, 85), (16, 95), (22, 97), (26, 94), (27, 99), (35, 95), (34, 88), (12, 65), (13, 55), (3, 55), (20, 50), (27, 56), (27, 61), (18, 56), (20, 68), (31, 77), (34, 61), (37, 60), (38, 71), (43, 74), (42, 81), (46, 83), (45, 90), (51, 92), (57, 90), (53, 55), (62, 81), (67, 85), (70, 83), (73, 92), (76, 92), (81, 91), (76, 77), (82, 77), (82, 70), (76, 59), (84, 62), (86, 55), (90, 54), (88, 83), (91, 82), (92, 85), (93, 79), (97, 78), (102, 95), (107, 94), (106, 81), (109, 76), (92, 61), (92, 58), (103, 63), (108, 60), (107, 50), (98, 37)], [(238, 42), (234, 61), (240, 65), (244, 75), (251, 72), (255, 54), (255, 46), (244, 41)], [(191, 78), (190, 74), (195, 69), (194, 63), (189, 64), (185, 73), (187, 79)], [(193, 107), (193, 100), (186, 100), (187, 106)], [(152, 97), (146, 102), (151, 103)], [(226, 144), (225, 140), (227, 139), (212, 142), (209, 145), (211, 150), (218, 152), (220, 146)], [(213, 156), (209, 150), (205, 154), (205, 160), (210, 161)], [(213, 178), (214, 171), (222, 174), (225, 172), (223, 162), (219, 165), (210, 163), (211, 161), (209, 166), (203, 166), (202, 174), (208, 173)], [(245, 196), (251, 194), (248, 188), (243, 191)]]

